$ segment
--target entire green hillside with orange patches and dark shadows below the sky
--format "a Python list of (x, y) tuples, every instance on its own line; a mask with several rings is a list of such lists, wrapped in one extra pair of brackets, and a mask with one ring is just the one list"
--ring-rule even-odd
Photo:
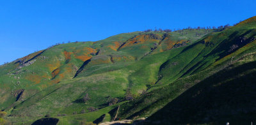
[(0, 109), (13, 124), (45, 115), (58, 124), (250, 121), (255, 18), (218, 30), (138, 31), (40, 50), (0, 66)]

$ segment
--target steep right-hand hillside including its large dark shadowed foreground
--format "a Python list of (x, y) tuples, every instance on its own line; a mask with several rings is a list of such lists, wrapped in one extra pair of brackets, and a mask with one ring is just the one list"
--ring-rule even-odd
[[(209, 34), (192, 47), (189, 46), (189, 49), (194, 49), (196, 45), (207, 48), (205, 41), (212, 43), (207, 54), (203, 55), (204, 50), (198, 52), (196, 58), (201, 56), (202, 60), (194, 63), (188, 71), (184, 71), (188, 68), (182, 70), (185, 72), (183, 76), (193, 71), (191, 75), (182, 76), (174, 82), (171, 79), (170, 84), (125, 103), (119, 117), (149, 117), (148, 121), (157, 121), (158, 124), (225, 124), (227, 121), (242, 124), (255, 120), (255, 103), (252, 101), (255, 98), (255, 25), (244, 24), (241, 27), (244, 22), (220, 33)], [(234, 45), (237, 45), (236, 48)], [(173, 70), (174, 66), (171, 66)], [(200, 68), (204, 70), (196, 71)]]

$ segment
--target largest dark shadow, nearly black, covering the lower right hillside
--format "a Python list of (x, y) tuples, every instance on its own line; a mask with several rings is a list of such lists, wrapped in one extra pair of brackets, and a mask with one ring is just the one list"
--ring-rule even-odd
[(250, 124), (256, 121), (255, 68), (256, 61), (219, 71), (175, 98), (148, 121), (150, 124)]

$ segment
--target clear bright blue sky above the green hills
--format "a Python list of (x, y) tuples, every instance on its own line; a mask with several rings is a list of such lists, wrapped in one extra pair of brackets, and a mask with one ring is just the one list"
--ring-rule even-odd
[(0, 64), (63, 41), (145, 29), (235, 24), (255, 0), (0, 0)]

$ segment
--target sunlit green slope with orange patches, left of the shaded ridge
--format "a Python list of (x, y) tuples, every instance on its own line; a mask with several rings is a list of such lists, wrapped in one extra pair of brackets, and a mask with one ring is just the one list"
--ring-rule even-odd
[[(185, 35), (185, 41), (195, 41), (199, 37), (193, 36), (195, 32), (206, 33), (204, 29), (190, 31), (188, 36)], [(0, 97), (4, 101), (0, 106), (9, 115), (22, 116), (20, 119), (32, 116), (37, 119), (46, 114), (56, 116), (72, 115), (81, 110), (88, 112), (88, 107), (104, 108), (108, 106), (109, 98), (122, 101), (127, 92), (136, 97), (157, 81), (161, 64), (184, 49), (168, 48), (164, 52), (153, 52), (154, 43), (159, 43), (164, 34), (135, 32), (97, 42), (57, 45), (1, 66), (0, 85), (5, 89), (1, 90)], [(175, 42), (182, 40), (180, 36), (179, 33), (169, 33), (168, 40), (173, 39), (175, 45)], [(144, 43), (137, 45), (136, 41)], [(124, 47), (121, 47), (122, 44)], [(134, 47), (143, 49), (134, 50)], [(72, 78), (88, 59), (90, 63), (76, 78)], [(26, 66), (29, 61), (34, 62)], [(24, 92), (17, 98), (22, 89)], [(86, 93), (90, 100), (84, 104), (81, 98)], [(12, 117), (11, 121), (15, 119)]]

